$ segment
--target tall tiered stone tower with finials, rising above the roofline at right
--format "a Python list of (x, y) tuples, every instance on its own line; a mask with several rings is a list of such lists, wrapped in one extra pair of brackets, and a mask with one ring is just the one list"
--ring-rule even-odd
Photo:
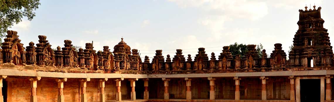
[[(289, 66), (328, 69), (332, 65), (333, 51), (327, 29), (323, 27), (321, 7), (299, 10), (299, 29), (289, 53)], [(311, 65), (313, 63), (313, 66)]]

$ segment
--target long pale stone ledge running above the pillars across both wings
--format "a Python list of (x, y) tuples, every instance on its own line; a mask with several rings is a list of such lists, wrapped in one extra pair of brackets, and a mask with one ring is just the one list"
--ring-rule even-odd
[(0, 69), (0, 75), (39, 76), (54, 78), (196, 78), (196, 77), (249, 77), (249, 76), (308, 76), (334, 75), (334, 70), (273, 71), (205, 74), (118, 74), (118, 73), (62, 73), (36, 70)]

